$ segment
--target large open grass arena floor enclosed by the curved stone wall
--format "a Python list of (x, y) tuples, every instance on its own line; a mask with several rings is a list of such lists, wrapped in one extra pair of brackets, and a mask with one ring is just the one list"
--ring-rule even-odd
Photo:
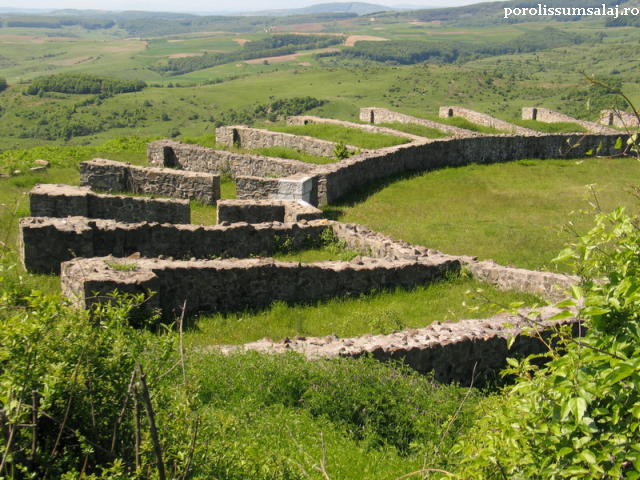
[(627, 158), (470, 165), (388, 179), (324, 211), (449, 254), (556, 270), (564, 267), (551, 260), (570, 238), (562, 225), (573, 222), (578, 232), (593, 226), (591, 216), (579, 214), (591, 208), (586, 185), (603, 189), (604, 211), (632, 207), (636, 199), (627, 192), (637, 171)]

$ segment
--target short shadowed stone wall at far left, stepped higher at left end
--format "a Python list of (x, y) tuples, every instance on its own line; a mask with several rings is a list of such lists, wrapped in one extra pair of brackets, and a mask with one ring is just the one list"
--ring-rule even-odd
[(190, 223), (188, 200), (100, 195), (89, 187), (40, 184), (29, 193), (34, 217), (113, 219), (118, 222)]

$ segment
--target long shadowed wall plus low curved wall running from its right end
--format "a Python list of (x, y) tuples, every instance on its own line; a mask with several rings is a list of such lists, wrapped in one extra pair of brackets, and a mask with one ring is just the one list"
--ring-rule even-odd
[(269, 255), (290, 240), (294, 250), (319, 239), (332, 228), (338, 240), (368, 257), (388, 261), (450, 262), (466, 265), (480, 280), (504, 290), (519, 290), (558, 299), (577, 279), (550, 272), (504, 267), (492, 261), (452, 256), (395, 241), (361, 225), (328, 220), (305, 223), (233, 223), (204, 227), (156, 223), (118, 223), (83, 217), (20, 220), (21, 259), (29, 272), (59, 272), (60, 263), (76, 257), (113, 255), (207, 259)]

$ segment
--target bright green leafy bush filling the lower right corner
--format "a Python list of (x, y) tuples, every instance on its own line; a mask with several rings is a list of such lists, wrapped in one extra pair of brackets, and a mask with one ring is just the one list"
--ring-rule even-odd
[(640, 219), (599, 213), (558, 260), (586, 334), (559, 331), (542, 368), (509, 362), (516, 385), (455, 449), (465, 478), (640, 478)]

